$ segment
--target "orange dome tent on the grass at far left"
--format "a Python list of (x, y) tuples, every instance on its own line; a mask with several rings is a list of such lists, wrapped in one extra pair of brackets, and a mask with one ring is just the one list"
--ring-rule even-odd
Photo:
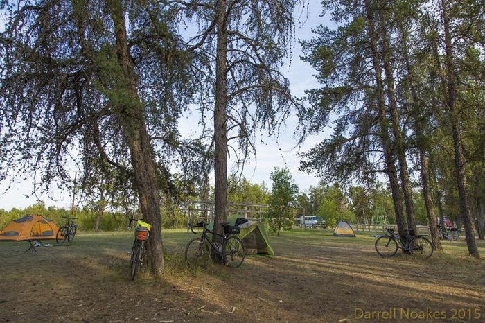
[(58, 226), (42, 216), (24, 216), (10, 222), (0, 231), (0, 241), (37, 241), (55, 239)]

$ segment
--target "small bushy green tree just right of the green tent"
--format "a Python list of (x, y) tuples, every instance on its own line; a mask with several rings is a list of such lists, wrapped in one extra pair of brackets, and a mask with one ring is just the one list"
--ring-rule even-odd
[(270, 230), (279, 236), (282, 228), (293, 224), (291, 204), (297, 198), (299, 189), (288, 168), (274, 168), (271, 180), (272, 191), (266, 218)]

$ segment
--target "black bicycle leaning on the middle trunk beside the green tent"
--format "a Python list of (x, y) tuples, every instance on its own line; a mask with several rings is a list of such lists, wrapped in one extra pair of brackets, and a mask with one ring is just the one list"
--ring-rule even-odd
[[(202, 236), (188, 241), (185, 247), (185, 261), (188, 268), (205, 268), (210, 263), (211, 257), (219, 259), (231, 268), (237, 268), (243, 264), (245, 259), (243, 241), (235, 236), (239, 233), (239, 228), (232, 227), (229, 223), (221, 223), (221, 225), (224, 227), (224, 234), (217, 234), (207, 229), (204, 221), (198, 222), (197, 225), (189, 225), (193, 234), (196, 233), (193, 230), (194, 227), (202, 227)], [(213, 242), (209, 234), (220, 236), (221, 244)]]

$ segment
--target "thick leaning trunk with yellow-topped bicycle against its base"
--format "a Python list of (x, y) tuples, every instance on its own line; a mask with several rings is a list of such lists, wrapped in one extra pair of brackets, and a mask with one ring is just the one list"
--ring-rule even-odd
[(134, 171), (136, 190), (145, 221), (152, 225), (147, 243), (147, 264), (152, 274), (164, 269), (161, 241), (160, 194), (155, 159), (145, 125), (143, 107), (136, 89), (136, 76), (127, 44), (126, 22), (121, 1), (108, 0), (107, 6), (114, 24), (114, 52), (121, 71), (119, 91), (125, 98), (116, 102), (116, 116), (127, 138)]

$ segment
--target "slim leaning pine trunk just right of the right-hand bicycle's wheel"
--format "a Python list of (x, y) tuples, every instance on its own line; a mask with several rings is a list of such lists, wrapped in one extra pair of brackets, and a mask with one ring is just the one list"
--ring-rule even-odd
[(426, 146), (423, 134), (423, 116), (421, 109), (419, 107), (418, 94), (416, 93), (416, 88), (414, 87), (414, 71), (412, 69), (411, 63), (409, 62), (409, 52), (407, 48), (407, 33), (399, 23), (399, 29), (401, 33), (401, 44), (403, 46), (403, 55), (405, 66), (407, 70), (407, 79), (409, 90), (411, 91), (412, 107), (413, 107), (413, 117), (414, 117), (414, 131), (416, 132), (416, 141), (419, 151), (419, 161), (421, 162), (421, 182), (423, 184), (423, 198), (426, 205), (427, 220), (430, 223), (430, 233), (432, 243), (435, 250), (443, 250), (441, 242), (439, 241), (439, 233), (436, 224), (436, 217), (434, 216), (434, 205), (431, 194), (431, 184), (430, 184), (430, 165), (429, 159), (426, 155)]

